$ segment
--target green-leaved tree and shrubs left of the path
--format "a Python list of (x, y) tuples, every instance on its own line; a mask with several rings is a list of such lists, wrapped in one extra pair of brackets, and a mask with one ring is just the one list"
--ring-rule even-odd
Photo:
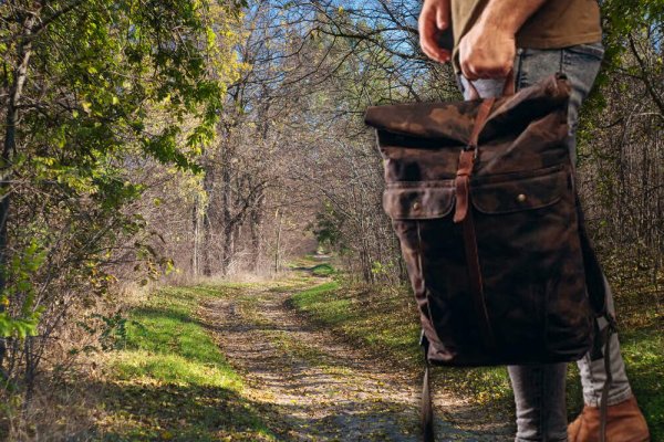
[[(22, 369), (30, 386), (68, 312), (114, 281), (125, 241), (145, 227), (141, 214), (124, 211), (144, 190), (134, 179), (144, 159), (199, 169), (236, 70), (219, 35), (232, 35), (240, 7), (186, 0), (0, 6), (0, 367), (7, 382)], [(156, 259), (138, 239), (133, 249)]]

